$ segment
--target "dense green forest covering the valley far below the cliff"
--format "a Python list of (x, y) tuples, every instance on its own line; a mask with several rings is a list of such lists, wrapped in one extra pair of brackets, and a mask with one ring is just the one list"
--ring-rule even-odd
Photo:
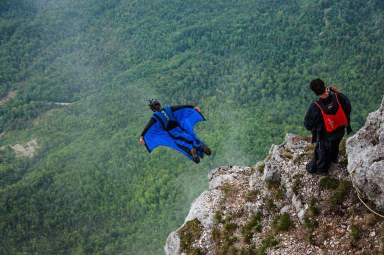
[[(210, 169), (309, 135), (313, 78), (364, 124), (383, 18), (381, 0), (1, 0), (0, 253), (162, 254)], [(212, 155), (140, 146), (149, 97), (199, 106)]]

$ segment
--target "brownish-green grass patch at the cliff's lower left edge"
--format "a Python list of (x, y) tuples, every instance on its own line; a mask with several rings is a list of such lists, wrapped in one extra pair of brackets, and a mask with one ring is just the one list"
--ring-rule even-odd
[(192, 243), (200, 238), (201, 233), (202, 225), (197, 218), (187, 221), (177, 231), (177, 234), (180, 237), (180, 253), (186, 252), (187, 254), (189, 254), (192, 252), (197, 252), (196, 248), (192, 247)]

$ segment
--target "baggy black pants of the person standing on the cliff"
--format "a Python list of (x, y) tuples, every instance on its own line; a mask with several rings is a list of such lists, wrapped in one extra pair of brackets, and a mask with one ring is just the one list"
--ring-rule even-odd
[(337, 162), (338, 144), (342, 138), (334, 141), (316, 142), (312, 160), (306, 165), (308, 172), (328, 172), (329, 163)]

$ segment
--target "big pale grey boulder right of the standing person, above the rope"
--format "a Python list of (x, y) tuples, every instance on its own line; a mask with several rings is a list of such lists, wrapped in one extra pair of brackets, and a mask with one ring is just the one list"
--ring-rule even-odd
[(359, 189), (377, 207), (384, 209), (384, 98), (378, 110), (369, 113), (365, 125), (346, 141), (348, 172)]

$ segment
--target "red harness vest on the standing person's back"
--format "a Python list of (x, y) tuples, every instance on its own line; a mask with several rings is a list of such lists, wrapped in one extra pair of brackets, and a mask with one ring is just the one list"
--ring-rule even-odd
[[(314, 102), (321, 110), (322, 117), (324, 118), (326, 131), (330, 132), (339, 126), (347, 124), (347, 119), (341, 104), (338, 101), (336, 93), (331, 93), (332, 103), (325, 105), (320, 101)], [(336, 104), (337, 102), (337, 104)]]

